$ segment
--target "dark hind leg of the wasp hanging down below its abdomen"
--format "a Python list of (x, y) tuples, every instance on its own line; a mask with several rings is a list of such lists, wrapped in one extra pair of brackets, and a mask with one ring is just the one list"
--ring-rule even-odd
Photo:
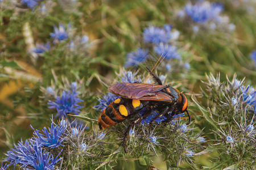
[(122, 141), (123, 141), (122, 145), (124, 147), (125, 153), (127, 153), (127, 148), (126, 148), (126, 142), (127, 141), (126, 141), (126, 139), (127, 139), (128, 135), (130, 133), (131, 128), (133, 126), (139, 124), (143, 120), (143, 118), (146, 118), (148, 116), (148, 114), (150, 114), (151, 112), (152, 112), (152, 109), (147, 109), (146, 112), (141, 117), (137, 118), (137, 120), (133, 120), (130, 123), (130, 125), (126, 128), (125, 133), (124, 133), (123, 138), (122, 138)]

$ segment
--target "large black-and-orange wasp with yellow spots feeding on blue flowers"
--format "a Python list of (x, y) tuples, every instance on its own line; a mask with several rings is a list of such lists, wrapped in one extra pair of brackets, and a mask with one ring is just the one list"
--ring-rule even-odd
[(159, 77), (152, 73), (148, 67), (147, 70), (155, 79), (156, 84), (117, 83), (109, 86), (109, 92), (120, 97), (102, 111), (101, 116), (98, 118), (98, 125), (101, 130), (139, 114), (142, 109), (144, 109), (143, 115), (138, 120), (133, 121), (133, 124), (138, 124), (143, 118), (149, 116), (152, 111), (158, 112), (157, 117), (166, 117), (167, 120), (165, 122), (170, 122), (177, 114), (187, 112), (189, 118), (187, 125), (190, 124), (191, 117), (187, 111), (187, 97), (176, 88), (163, 85)]

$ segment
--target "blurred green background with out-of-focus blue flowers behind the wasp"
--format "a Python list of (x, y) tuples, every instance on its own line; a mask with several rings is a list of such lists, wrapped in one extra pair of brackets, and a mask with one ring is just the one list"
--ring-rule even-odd
[[(204, 129), (209, 142), (209, 124), (191, 100), (205, 87), (201, 83), (205, 75), (220, 74), (224, 81), (236, 74), (237, 79), (246, 78), (245, 85), (255, 88), (253, 0), (0, 0), (0, 6), (2, 159), (20, 138), (32, 137), (30, 125), (42, 129), (51, 124), (56, 110), (48, 108), (47, 87), (58, 94), (77, 82), (84, 100), (80, 114), (97, 119), (101, 114), (94, 108), (97, 99), (120, 80), (123, 70), (145, 77), (146, 66), (153, 68), (162, 54), (167, 57), (156, 69), (157, 74), (166, 76), (165, 84), (184, 92), (192, 120), (199, 131)], [(170, 46), (154, 44), (168, 33)], [(147, 54), (139, 56), (143, 52)], [(197, 100), (207, 105), (204, 99)], [(89, 123), (88, 127), (88, 131), (97, 129), (97, 124)], [(217, 157), (213, 151), (193, 160), (197, 168), (210, 167)], [(155, 167), (165, 169), (160, 156), (154, 160)], [(126, 169), (131, 163), (134, 169), (141, 169), (134, 160), (118, 161), (114, 169)], [(181, 167), (189, 166), (181, 162)]]

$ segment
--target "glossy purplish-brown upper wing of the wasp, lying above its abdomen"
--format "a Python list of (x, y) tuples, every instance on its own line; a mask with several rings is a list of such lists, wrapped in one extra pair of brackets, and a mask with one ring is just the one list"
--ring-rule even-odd
[(109, 86), (109, 92), (117, 96), (129, 99), (141, 99), (143, 96), (154, 96), (168, 86), (159, 84), (144, 84), (144, 83), (117, 83)]

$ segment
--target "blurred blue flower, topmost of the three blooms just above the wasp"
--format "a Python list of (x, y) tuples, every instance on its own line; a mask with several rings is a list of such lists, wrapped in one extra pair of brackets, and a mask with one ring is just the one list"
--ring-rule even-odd
[(166, 29), (150, 26), (144, 29), (143, 38), (145, 42), (159, 44), (159, 42), (167, 43), (171, 39), (171, 27), (165, 25)]

